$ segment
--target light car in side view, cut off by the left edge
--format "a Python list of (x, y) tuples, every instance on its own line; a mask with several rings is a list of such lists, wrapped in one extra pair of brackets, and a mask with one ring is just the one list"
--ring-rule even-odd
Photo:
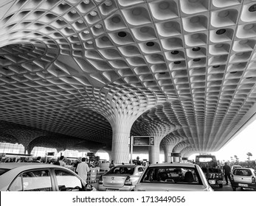
[(96, 191), (75, 172), (44, 163), (1, 163), (0, 191)]

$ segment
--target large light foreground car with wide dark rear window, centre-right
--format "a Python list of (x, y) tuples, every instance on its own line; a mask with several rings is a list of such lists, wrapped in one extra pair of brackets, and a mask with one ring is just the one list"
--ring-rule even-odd
[(134, 191), (213, 191), (201, 168), (191, 163), (152, 164)]

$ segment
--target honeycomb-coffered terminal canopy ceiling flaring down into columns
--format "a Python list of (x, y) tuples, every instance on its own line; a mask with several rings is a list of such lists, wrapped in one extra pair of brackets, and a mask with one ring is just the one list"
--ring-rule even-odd
[(256, 1), (4, 0), (0, 11), (0, 141), (116, 151), (123, 129), (186, 156), (218, 151), (255, 115)]

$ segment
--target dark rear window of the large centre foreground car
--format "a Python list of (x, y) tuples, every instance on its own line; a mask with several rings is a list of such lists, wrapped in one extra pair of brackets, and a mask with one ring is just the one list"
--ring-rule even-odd
[(149, 167), (141, 182), (202, 185), (196, 168), (174, 166)]

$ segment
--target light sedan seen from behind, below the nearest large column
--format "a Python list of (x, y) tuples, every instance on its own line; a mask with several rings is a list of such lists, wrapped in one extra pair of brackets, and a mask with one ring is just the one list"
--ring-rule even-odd
[(100, 177), (99, 191), (131, 191), (145, 170), (144, 166), (121, 165)]

